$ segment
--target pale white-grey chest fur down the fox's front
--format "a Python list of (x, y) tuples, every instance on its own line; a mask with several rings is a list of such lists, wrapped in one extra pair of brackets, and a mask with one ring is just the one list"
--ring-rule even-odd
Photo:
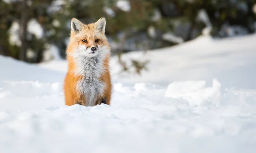
[(96, 57), (76, 58), (75, 74), (83, 78), (76, 84), (76, 89), (86, 98), (86, 106), (93, 106), (96, 102), (96, 96), (103, 95), (105, 83), (99, 78), (104, 72), (103, 59)]

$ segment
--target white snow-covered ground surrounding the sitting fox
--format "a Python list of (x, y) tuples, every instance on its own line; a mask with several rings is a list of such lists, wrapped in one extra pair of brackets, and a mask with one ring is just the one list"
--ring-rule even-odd
[[(64, 105), (66, 61), (0, 56), (0, 153), (255, 153), (256, 35), (111, 59), (111, 106)], [(129, 63), (128, 63), (129, 64)]]

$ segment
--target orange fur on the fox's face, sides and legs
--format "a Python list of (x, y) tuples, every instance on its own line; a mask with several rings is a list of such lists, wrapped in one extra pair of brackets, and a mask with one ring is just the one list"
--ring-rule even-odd
[[(87, 43), (84, 43), (82, 41), (83, 39), (87, 40)], [(95, 39), (98, 39), (99, 42), (95, 42)], [(78, 102), (81, 105), (87, 106), (87, 95), (83, 95), (76, 89), (77, 83), (81, 81), (84, 78), (84, 76), (75, 74), (75, 70), (77, 68), (76, 60), (73, 56), (71, 56), (79, 45), (86, 46), (87, 48), (90, 48), (91, 46), (105, 46), (107, 49), (110, 50), (110, 46), (107, 38), (105, 37), (105, 33), (98, 32), (95, 27), (95, 23), (83, 24), (82, 29), (79, 33), (73, 32), (71, 30), (70, 43), (67, 46), (66, 50), (68, 71), (64, 80), (65, 104), (68, 106), (78, 104)], [(110, 52), (106, 53), (105, 58), (103, 60), (103, 66), (105, 71), (102, 72), (99, 78), (99, 81), (102, 81), (105, 84), (104, 92), (103, 95), (95, 96), (97, 100), (95, 101), (94, 105), (100, 104), (101, 98), (106, 98), (106, 104), (110, 105), (112, 91), (111, 75), (109, 72), (110, 56)]]

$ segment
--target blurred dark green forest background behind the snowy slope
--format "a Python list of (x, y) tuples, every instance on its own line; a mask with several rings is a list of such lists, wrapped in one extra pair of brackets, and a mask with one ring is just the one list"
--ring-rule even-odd
[(120, 56), (199, 35), (247, 35), (256, 31), (255, 4), (256, 0), (0, 0), (0, 54), (29, 63), (64, 59), (72, 17), (91, 23), (105, 16), (112, 55)]

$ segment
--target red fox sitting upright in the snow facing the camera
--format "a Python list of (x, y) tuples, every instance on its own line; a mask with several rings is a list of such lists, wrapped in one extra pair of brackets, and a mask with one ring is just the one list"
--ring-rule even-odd
[(105, 36), (105, 17), (84, 24), (71, 20), (70, 42), (66, 49), (68, 71), (64, 80), (65, 104), (95, 106), (111, 101), (109, 59), (111, 48)]

